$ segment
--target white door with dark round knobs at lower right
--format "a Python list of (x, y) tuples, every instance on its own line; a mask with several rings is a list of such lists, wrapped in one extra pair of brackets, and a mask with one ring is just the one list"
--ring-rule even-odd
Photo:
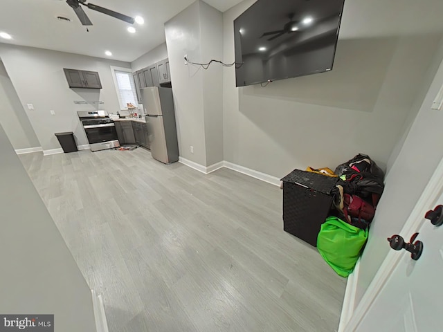
[[(424, 219), (428, 210), (443, 205), (440, 166), (411, 214), (413, 219), (417, 217), (417, 221), (414, 223), (408, 219), (411, 221), (408, 230), (411, 234), (399, 234), (408, 242), (414, 232), (419, 232), (417, 240), (424, 245), (422, 256), (414, 261), (410, 252), (392, 250), (387, 257), (389, 266), (385, 264), (379, 271), (379, 275), (383, 275), (384, 269), (384, 279), (374, 279), (379, 286), (372, 292), (377, 295), (372, 301), (367, 301), (371, 303), (368, 309), (363, 310), (360, 318), (353, 317), (352, 324), (345, 331), (443, 331), (443, 313), (440, 310), (443, 304), (443, 226), (435, 227), (431, 221)], [(430, 191), (433, 193), (430, 194)], [(407, 226), (403, 231), (408, 229)], [(386, 238), (390, 236), (392, 234), (386, 234)], [(390, 259), (392, 257), (394, 259)], [(390, 270), (390, 267), (394, 268)]]

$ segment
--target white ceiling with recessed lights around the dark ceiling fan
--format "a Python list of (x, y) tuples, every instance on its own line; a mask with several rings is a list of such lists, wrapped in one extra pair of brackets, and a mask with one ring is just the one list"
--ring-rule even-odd
[[(205, 0), (221, 12), (242, 0)], [(165, 42), (166, 21), (179, 14), (195, 0), (91, 0), (91, 3), (125, 15), (140, 15), (145, 24), (134, 24), (135, 34), (127, 32), (130, 24), (100, 12), (84, 8), (93, 26), (89, 33), (65, 0), (1, 0), (0, 32), (13, 39), (0, 42), (61, 50), (69, 53), (106, 57), (132, 62)], [(57, 20), (57, 16), (71, 22)]]

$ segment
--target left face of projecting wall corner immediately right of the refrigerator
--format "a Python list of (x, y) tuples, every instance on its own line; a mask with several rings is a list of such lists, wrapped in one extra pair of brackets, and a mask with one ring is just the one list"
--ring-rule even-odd
[[(202, 61), (199, 2), (192, 3), (166, 22), (165, 34), (180, 156), (199, 165), (206, 165), (203, 69), (185, 66), (183, 59), (187, 54), (192, 62)], [(193, 154), (190, 152), (190, 146), (194, 147)]]

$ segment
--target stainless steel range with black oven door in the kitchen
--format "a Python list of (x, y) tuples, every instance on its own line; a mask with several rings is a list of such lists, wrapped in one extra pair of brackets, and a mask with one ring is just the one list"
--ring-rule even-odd
[(120, 147), (116, 125), (107, 111), (78, 111), (91, 151)]

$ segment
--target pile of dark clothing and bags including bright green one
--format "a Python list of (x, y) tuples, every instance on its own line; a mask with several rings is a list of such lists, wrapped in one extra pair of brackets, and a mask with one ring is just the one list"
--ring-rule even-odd
[(384, 189), (384, 173), (365, 154), (338, 165), (335, 172), (324, 170), (338, 176), (338, 181), (332, 190), (334, 209), (321, 226), (317, 248), (338, 275), (347, 277), (368, 240), (368, 228)]

